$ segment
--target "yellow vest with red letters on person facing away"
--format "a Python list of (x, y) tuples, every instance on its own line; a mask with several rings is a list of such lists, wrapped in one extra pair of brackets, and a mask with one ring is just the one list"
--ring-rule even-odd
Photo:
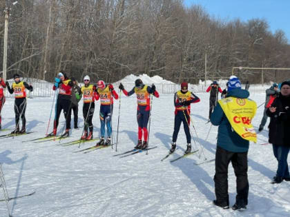
[(257, 104), (249, 99), (227, 97), (218, 101), (231, 127), (237, 134), (247, 141), (257, 142), (257, 134), (251, 124)]

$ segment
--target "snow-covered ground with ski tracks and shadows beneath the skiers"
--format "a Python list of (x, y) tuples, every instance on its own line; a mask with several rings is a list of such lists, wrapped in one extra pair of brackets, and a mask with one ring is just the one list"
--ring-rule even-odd
[[(22, 143), (44, 136), (52, 105), (51, 98), (28, 99), (26, 111), (27, 130), (35, 133), (14, 138), (0, 138), (0, 161), (6, 178), (9, 196), (36, 194), (10, 201), (13, 216), (289, 216), (290, 183), (271, 185), (277, 162), (271, 145), (267, 143), (267, 130), (258, 134), (258, 143), (249, 149), (249, 205), (246, 211), (223, 210), (212, 205), (214, 193), (214, 162), (200, 166), (204, 156), (215, 156), (217, 127), (205, 124), (209, 110), (209, 94), (197, 94), (200, 103), (192, 108), (192, 118), (197, 131), (194, 134), (198, 149), (204, 155), (193, 154), (170, 163), (183, 154), (186, 138), (183, 127), (177, 139), (175, 154), (161, 162), (171, 146), (174, 121), (173, 94), (153, 98), (150, 145), (156, 149), (128, 156), (113, 157), (115, 149), (99, 149), (88, 154), (73, 153), (77, 145), (63, 147), (59, 141)], [(258, 105), (264, 102), (264, 94), (253, 94)], [(8, 99), (2, 111), (3, 128), (13, 129), (13, 99)], [(113, 114), (113, 134), (117, 132), (118, 101)], [(79, 126), (84, 124), (79, 105)], [(263, 107), (253, 119), (258, 129)], [(137, 141), (136, 99), (122, 94), (120, 110), (118, 152), (132, 149)], [(268, 120), (269, 121), (269, 120)], [(99, 136), (99, 102), (96, 103), (95, 136)], [(64, 125), (61, 116), (59, 133)], [(206, 135), (211, 129), (209, 138)], [(6, 134), (7, 132), (0, 132)], [(81, 130), (72, 130), (75, 140)], [(95, 145), (85, 143), (81, 148)], [(195, 147), (193, 143), (193, 147)], [(115, 148), (115, 147), (114, 147)], [(235, 202), (235, 176), (229, 167), (230, 203)], [(0, 189), (1, 198), (3, 198)], [(0, 216), (7, 216), (5, 202), (0, 203)]]

